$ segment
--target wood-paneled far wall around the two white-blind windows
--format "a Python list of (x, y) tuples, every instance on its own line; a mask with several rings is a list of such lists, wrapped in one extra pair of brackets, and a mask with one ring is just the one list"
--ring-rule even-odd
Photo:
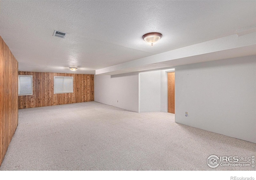
[[(94, 101), (94, 75), (18, 72), (33, 76), (33, 95), (18, 96), (19, 109)], [(74, 92), (54, 94), (54, 76), (73, 76)]]

